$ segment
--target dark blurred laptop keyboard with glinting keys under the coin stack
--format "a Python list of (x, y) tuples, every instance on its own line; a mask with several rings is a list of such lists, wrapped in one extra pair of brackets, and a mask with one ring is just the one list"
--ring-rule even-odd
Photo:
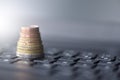
[(30, 68), (48, 80), (120, 80), (120, 58), (104, 51), (45, 50), (44, 59), (23, 60), (1, 52), (0, 63)]

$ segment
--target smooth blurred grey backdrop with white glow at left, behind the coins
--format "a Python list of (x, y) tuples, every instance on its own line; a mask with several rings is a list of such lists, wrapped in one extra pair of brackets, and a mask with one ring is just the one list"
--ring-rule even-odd
[(0, 45), (39, 25), (45, 46), (120, 45), (119, 0), (0, 0)]

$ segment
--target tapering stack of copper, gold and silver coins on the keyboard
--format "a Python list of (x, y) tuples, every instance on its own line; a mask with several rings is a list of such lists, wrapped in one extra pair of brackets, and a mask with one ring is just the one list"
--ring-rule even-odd
[(17, 56), (28, 59), (43, 56), (43, 45), (38, 26), (21, 28), (20, 39), (17, 43)]

